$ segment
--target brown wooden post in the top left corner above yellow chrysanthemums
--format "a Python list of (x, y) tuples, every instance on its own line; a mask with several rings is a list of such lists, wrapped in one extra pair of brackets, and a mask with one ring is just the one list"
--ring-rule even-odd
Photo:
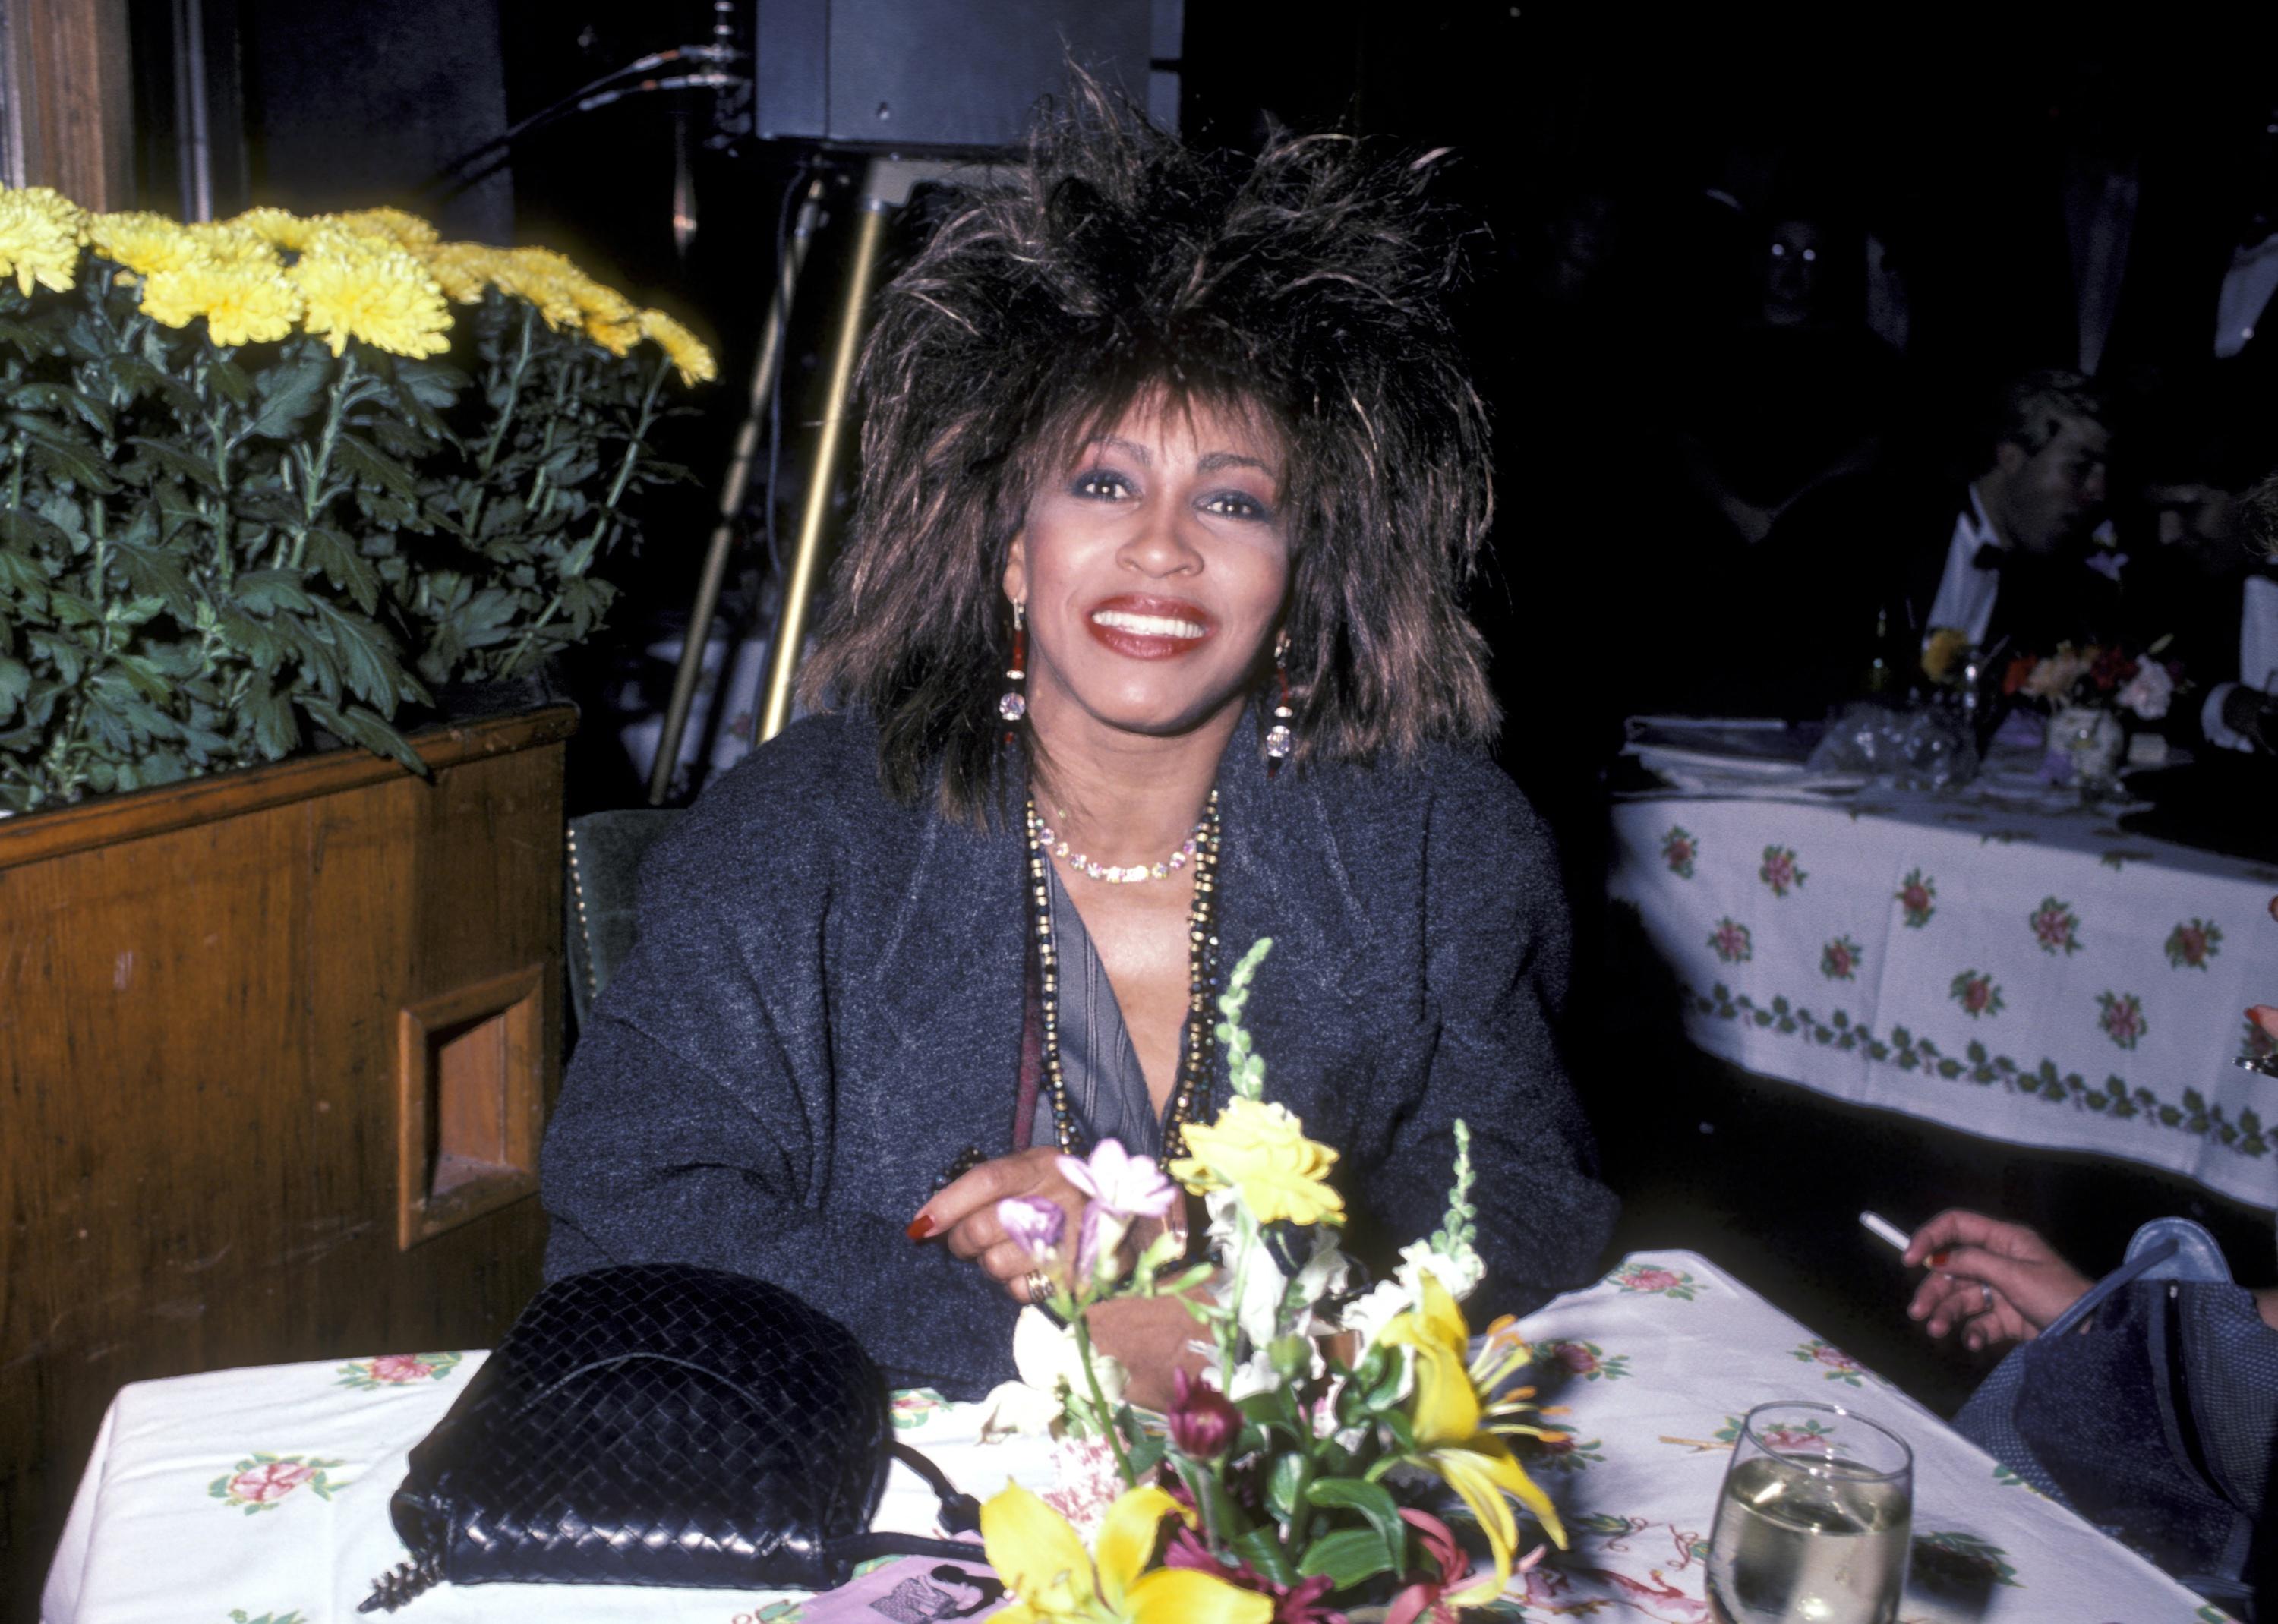
[(9, 182), (134, 207), (128, 0), (7, 0)]

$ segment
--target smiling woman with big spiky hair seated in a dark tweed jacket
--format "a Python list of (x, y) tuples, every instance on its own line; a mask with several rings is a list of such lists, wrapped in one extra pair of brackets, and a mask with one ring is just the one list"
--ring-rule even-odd
[[(1462, 1118), (1481, 1307), (1590, 1278), (1613, 1198), (1556, 861), (1478, 752), (1488, 440), (1428, 180), (1198, 155), (1077, 80), (948, 200), (863, 355), (825, 713), (649, 859), (547, 1139), (554, 1273), (738, 1269), (980, 1394), (1082, 1244), (1185, 1221), (1098, 1168), (1216, 1116), (1221, 943), (1273, 936), (1251, 1027), (1360, 1255), (1437, 1223)], [(1185, 1303), (1087, 1317), (1160, 1405)]]

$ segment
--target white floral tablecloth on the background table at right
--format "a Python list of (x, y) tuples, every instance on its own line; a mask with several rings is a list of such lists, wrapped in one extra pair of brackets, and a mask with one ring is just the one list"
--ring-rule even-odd
[(2278, 1207), (2278, 868), (2087, 811), (1642, 797), (1611, 895), (1695, 1043), (1768, 1077)]

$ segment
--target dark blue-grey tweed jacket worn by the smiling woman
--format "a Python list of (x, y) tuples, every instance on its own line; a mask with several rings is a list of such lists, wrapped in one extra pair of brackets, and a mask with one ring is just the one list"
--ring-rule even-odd
[[(1558, 1064), (1565, 907), (1519, 790), (1458, 752), (1269, 779), (1237, 736), (1219, 804), (1223, 966), (1273, 936), (1246, 1020), (1267, 1096), (1344, 1153), (1346, 1207), (1387, 1248), (1437, 1228), (1462, 1116), (1474, 1319), (1583, 1285), (1615, 1198)], [(847, 1323), (895, 1385), (1009, 1378), (1011, 1301), (904, 1225), (966, 1146), (1011, 1148), (1023, 856), (1014, 829), (888, 802), (861, 717), (720, 779), (642, 868), (638, 948), (547, 1130), (547, 1276), (734, 1269)]]

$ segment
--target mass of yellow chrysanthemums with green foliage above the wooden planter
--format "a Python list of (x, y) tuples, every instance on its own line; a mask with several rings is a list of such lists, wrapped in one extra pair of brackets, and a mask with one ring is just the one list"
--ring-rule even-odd
[(0, 811), (276, 761), (590, 633), (711, 353), (399, 210), (0, 189)]

